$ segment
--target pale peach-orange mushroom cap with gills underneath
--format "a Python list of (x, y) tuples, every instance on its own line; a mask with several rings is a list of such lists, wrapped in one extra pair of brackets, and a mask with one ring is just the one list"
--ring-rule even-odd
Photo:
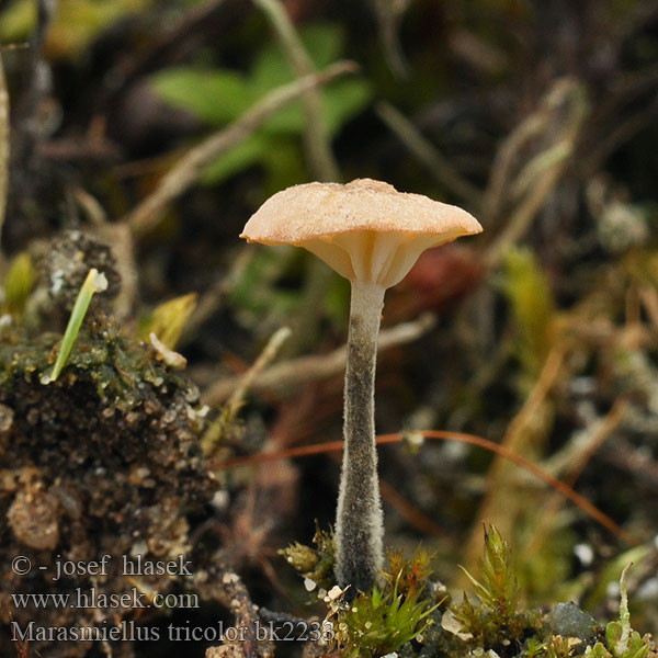
[(426, 249), (481, 230), (462, 208), (356, 179), (277, 192), (251, 216), (240, 237), (304, 247), (345, 279), (390, 287)]

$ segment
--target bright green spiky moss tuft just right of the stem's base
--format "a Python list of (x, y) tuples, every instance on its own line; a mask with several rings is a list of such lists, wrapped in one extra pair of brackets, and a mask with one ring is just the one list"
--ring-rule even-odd
[(427, 617), (439, 604), (429, 606), (419, 590), (404, 594), (393, 588), (360, 593), (339, 614), (337, 638), (347, 658), (373, 658), (399, 649), (432, 623)]

